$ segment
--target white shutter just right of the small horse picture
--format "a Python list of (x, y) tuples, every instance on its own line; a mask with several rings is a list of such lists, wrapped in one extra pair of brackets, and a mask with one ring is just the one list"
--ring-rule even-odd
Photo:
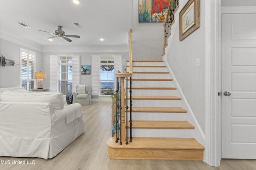
[(92, 96), (100, 94), (100, 56), (92, 55)]

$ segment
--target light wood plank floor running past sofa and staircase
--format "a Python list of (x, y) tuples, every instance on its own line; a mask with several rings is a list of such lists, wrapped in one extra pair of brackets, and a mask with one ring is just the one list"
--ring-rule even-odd
[[(202, 161), (114, 160), (108, 158), (106, 140), (112, 136), (111, 103), (82, 106), (85, 133), (52, 159), (0, 156), (3, 163), (28, 161), (34, 164), (0, 164), (0, 170), (256, 170), (256, 160), (221, 161), (211, 167)], [(1, 163), (0, 162), (0, 163)]]

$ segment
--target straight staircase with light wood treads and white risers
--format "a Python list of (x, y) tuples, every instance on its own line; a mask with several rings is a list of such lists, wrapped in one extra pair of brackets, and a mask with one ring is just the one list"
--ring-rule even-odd
[(163, 61), (133, 61), (133, 140), (120, 145), (115, 137), (108, 139), (110, 158), (203, 160), (204, 147), (193, 138), (195, 127), (187, 121), (182, 98), (176, 96), (176, 87), (166, 70)]

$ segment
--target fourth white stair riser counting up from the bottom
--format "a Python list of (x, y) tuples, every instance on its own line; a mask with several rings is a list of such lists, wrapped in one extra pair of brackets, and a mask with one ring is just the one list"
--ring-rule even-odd
[[(128, 93), (129, 95), (130, 93)], [(132, 89), (132, 96), (176, 96), (176, 90), (145, 90)]]

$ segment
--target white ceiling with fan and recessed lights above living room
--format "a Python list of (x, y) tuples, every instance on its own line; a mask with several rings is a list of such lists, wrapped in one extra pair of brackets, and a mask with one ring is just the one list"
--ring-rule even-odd
[[(24, 22), (31, 28), (18, 24)], [(79, 23), (82, 28), (72, 23)], [(57, 25), (68, 35), (48, 41)], [(44, 46), (124, 46), (132, 27), (132, 0), (0, 0), (0, 37), (11, 35)], [(10, 36), (10, 37), (11, 37)], [(104, 38), (105, 41), (100, 41)]]

